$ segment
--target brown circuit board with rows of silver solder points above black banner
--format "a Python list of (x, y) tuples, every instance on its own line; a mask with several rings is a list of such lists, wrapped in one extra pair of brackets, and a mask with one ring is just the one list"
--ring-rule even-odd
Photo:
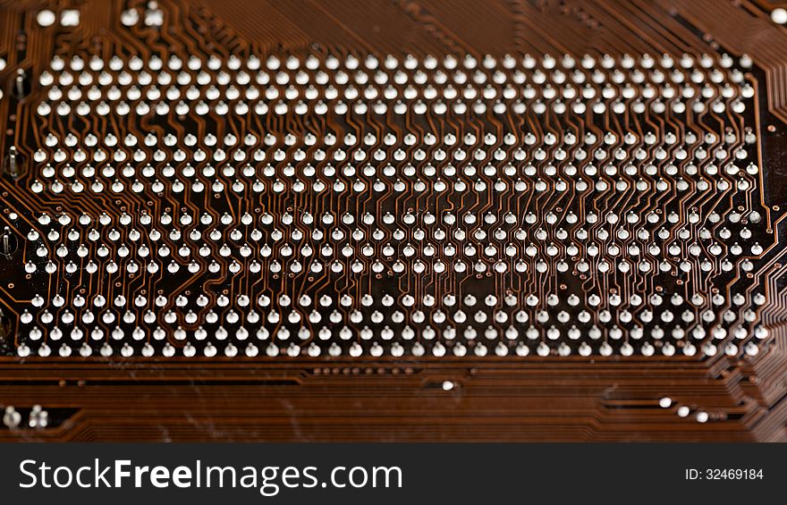
[(0, 441), (787, 440), (784, 7), (0, 1)]

